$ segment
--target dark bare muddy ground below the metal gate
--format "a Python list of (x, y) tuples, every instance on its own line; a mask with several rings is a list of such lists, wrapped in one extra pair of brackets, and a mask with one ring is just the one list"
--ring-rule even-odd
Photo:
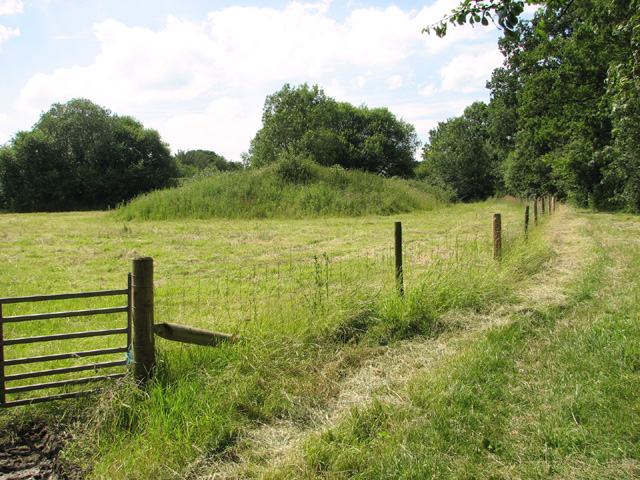
[(29, 424), (0, 438), (0, 480), (76, 480), (82, 469), (70, 465), (60, 452), (66, 434), (49, 425)]

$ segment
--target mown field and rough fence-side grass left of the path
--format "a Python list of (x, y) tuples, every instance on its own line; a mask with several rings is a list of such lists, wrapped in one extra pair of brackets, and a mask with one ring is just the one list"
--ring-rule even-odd
[[(496, 209), (513, 232), (501, 266), (490, 259)], [(120, 288), (130, 259), (151, 255), (157, 321), (237, 331), (242, 341), (217, 349), (159, 341), (157, 375), (147, 390), (123, 381), (97, 401), (22, 408), (0, 420), (65, 419), (76, 438), (68, 457), (90, 465), (87, 475), (95, 478), (201, 475), (249, 448), (243, 433), (256, 425), (310, 425), (335, 401), (341, 382), (386, 345), (437, 335), (452, 309), (481, 312), (514, 298), (517, 285), (549, 259), (535, 235), (527, 245), (518, 239), (522, 211), (506, 201), (394, 219), (2, 216), (3, 296)], [(405, 227), (404, 300), (393, 278), (396, 219)]]

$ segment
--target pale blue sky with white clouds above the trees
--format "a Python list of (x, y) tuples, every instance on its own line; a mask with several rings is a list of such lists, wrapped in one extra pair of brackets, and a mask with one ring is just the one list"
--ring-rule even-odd
[(502, 64), (500, 32), (422, 29), (458, 0), (0, 0), (0, 145), (54, 103), (87, 98), (157, 130), (173, 153), (240, 161), (267, 95), (319, 85), (385, 107), (425, 143)]

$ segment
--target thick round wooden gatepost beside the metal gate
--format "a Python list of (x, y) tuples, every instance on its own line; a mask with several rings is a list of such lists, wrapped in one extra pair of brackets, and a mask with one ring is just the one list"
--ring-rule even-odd
[(145, 384), (156, 364), (153, 333), (153, 258), (133, 260), (133, 372)]

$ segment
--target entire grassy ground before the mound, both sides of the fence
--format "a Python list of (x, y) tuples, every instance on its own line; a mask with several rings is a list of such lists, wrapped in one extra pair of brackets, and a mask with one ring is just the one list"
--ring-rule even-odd
[[(523, 217), (515, 201), (311, 220), (2, 215), (0, 296), (124, 288), (149, 255), (156, 321), (242, 341), (159, 341), (147, 390), (125, 381), (0, 423), (64, 423), (66, 457), (93, 478), (638, 475), (640, 222), (561, 207), (524, 242)], [(121, 319), (81, 326), (104, 321)], [(20, 328), (7, 336), (43, 334)]]

